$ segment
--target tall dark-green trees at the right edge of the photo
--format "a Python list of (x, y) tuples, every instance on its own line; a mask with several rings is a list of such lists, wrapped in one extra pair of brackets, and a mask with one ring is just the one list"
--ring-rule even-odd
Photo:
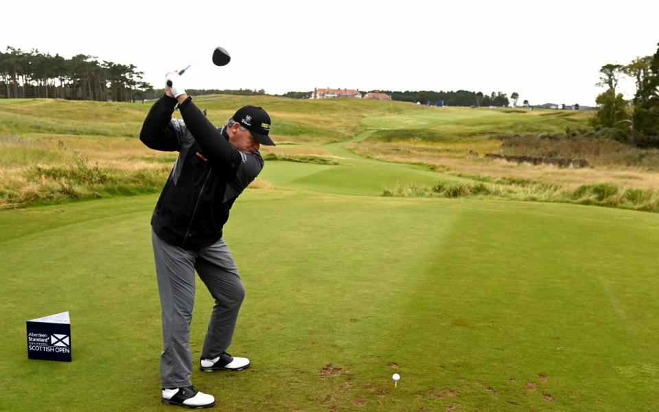
[[(594, 126), (618, 130), (619, 139), (641, 147), (659, 147), (659, 43), (653, 56), (638, 57), (627, 65), (607, 64), (599, 70)], [(623, 76), (634, 80), (634, 98), (618, 92)]]

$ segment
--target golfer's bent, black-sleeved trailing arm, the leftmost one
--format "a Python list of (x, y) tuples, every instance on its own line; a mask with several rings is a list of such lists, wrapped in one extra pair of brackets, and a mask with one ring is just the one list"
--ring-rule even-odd
[(166, 95), (151, 106), (139, 132), (139, 139), (143, 144), (165, 152), (175, 152), (181, 147), (180, 137), (172, 124), (174, 107), (176, 99)]

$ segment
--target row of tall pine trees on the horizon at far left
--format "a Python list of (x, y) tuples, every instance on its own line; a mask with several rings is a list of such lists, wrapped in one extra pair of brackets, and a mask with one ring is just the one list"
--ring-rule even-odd
[(135, 102), (153, 89), (134, 65), (95, 56), (64, 58), (37, 49), (0, 52), (0, 98), (62, 98)]

